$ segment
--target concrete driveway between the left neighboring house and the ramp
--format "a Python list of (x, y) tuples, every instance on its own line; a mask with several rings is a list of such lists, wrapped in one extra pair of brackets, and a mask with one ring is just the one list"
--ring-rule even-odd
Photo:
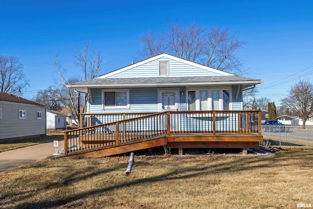
[[(64, 140), (59, 141), (57, 149), (61, 148), (64, 148)], [(0, 152), (0, 172), (53, 157), (53, 154), (55, 154), (53, 142)]]

